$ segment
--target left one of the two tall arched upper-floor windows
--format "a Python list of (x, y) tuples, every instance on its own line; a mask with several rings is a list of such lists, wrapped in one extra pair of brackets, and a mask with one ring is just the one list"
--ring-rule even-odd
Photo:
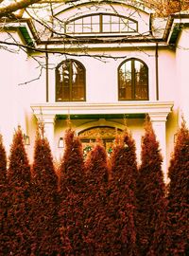
[(85, 67), (76, 60), (56, 68), (56, 101), (85, 101)]

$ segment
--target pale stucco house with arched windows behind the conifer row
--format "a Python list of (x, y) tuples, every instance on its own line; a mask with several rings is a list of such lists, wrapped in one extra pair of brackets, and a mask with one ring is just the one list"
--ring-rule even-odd
[(101, 135), (110, 151), (127, 124), (140, 161), (148, 114), (166, 174), (181, 116), (189, 122), (188, 25), (187, 11), (158, 18), (139, 1), (123, 0), (44, 1), (20, 19), (2, 19), (0, 132), (7, 150), (19, 124), (32, 158), (43, 119), (59, 159), (69, 118), (84, 149)]

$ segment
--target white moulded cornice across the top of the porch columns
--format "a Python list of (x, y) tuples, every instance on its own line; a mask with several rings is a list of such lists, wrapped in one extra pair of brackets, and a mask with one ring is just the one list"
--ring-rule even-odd
[(35, 103), (31, 109), (36, 117), (56, 117), (56, 115), (93, 114), (149, 114), (153, 117), (166, 117), (173, 107), (172, 101), (124, 101), (113, 103), (57, 102)]

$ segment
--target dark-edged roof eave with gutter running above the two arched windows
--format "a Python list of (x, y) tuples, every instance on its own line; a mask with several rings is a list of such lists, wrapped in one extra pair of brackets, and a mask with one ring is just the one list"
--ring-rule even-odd
[(62, 44), (65, 49), (69, 51), (78, 49), (78, 43), (80, 45), (85, 45), (89, 48), (124, 48), (124, 47), (133, 47), (133, 46), (156, 46), (158, 43), (159, 46), (174, 45), (177, 41), (177, 38), (180, 33), (180, 29), (183, 27), (189, 27), (189, 14), (174, 14), (171, 15), (167, 21), (167, 25), (164, 30), (163, 38), (154, 38), (151, 35), (146, 37), (140, 36), (116, 36), (113, 37), (92, 37), (92, 38), (65, 38), (65, 39), (49, 39), (47, 41), (41, 41), (38, 37), (38, 33), (31, 19), (21, 19), (21, 20), (1, 20), (0, 27), (4, 30), (8, 29), (17, 29), (22, 37), (25, 40), (26, 46), (30, 46), (31, 49), (36, 51), (45, 50), (45, 47), (48, 46), (48, 50), (52, 52), (59, 50), (62, 47)]

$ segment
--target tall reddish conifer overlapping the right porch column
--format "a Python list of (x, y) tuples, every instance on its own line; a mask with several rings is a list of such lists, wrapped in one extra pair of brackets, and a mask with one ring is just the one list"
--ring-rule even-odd
[(137, 242), (140, 255), (166, 255), (166, 199), (159, 142), (146, 117), (137, 178)]

